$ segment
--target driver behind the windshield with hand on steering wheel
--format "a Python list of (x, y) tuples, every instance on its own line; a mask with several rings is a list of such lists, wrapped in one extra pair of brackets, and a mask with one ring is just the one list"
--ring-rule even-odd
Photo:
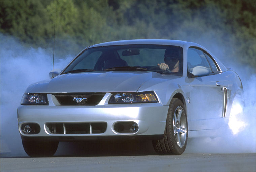
[(164, 53), (164, 63), (157, 65), (161, 70), (170, 70), (171, 72), (179, 72), (180, 50), (177, 48), (166, 49)]

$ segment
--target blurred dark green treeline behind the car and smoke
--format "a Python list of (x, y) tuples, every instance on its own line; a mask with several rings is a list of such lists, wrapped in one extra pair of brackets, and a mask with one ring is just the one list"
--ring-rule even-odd
[(54, 16), (59, 58), (106, 41), (178, 39), (256, 69), (256, 0), (0, 0), (0, 33), (50, 50)]

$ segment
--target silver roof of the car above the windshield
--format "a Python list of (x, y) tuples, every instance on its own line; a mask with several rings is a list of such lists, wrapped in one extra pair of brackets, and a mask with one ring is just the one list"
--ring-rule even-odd
[(180, 41), (180, 40), (168, 40), (168, 39), (133, 39), (133, 40), (121, 40), (121, 41), (111, 41), (104, 42), (100, 44), (95, 44), (90, 46), (92, 47), (100, 47), (100, 46), (111, 46), (111, 45), (135, 45), (135, 44), (151, 44), (151, 45), (174, 45), (183, 47), (184, 44), (194, 44), (194, 46), (200, 46), (198, 44)]

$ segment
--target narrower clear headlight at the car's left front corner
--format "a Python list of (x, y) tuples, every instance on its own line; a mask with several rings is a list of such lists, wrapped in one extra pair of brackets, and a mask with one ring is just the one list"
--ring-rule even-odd
[(24, 93), (21, 99), (22, 105), (47, 105), (47, 94), (39, 93)]

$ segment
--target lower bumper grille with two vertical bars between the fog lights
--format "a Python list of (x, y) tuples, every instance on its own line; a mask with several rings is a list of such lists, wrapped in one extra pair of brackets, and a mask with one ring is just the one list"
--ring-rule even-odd
[(50, 134), (100, 134), (106, 131), (107, 123), (47, 123), (46, 129)]

